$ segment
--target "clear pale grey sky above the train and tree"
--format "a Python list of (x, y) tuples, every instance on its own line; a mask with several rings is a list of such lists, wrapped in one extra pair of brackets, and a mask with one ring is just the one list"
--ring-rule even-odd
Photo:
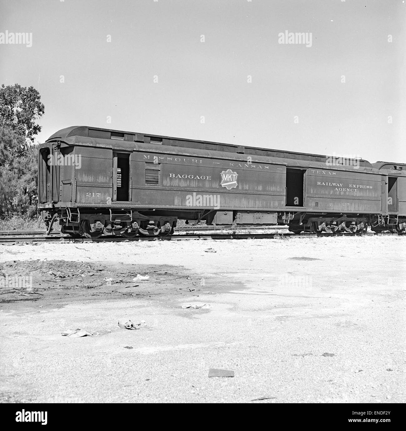
[[(0, 84), (39, 90), (40, 142), (91, 125), (406, 162), (405, 7), (0, 0), (0, 33), (32, 33), (31, 47), (0, 44)], [(311, 46), (279, 43), (286, 31)]]

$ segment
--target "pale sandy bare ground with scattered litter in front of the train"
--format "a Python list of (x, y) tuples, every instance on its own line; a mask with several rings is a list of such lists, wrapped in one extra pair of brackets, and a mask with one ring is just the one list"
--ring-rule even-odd
[[(0, 287), (0, 399), (404, 403), (405, 251), (397, 236), (0, 245), (0, 277), (33, 281)], [(93, 335), (61, 336), (77, 328)]]

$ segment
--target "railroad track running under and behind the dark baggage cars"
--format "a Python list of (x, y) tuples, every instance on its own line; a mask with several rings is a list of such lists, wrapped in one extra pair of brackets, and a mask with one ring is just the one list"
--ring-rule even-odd
[[(247, 233), (239, 233), (238, 231), (250, 231)], [(276, 230), (276, 232), (252, 232), (253, 230), (264, 231), (264, 230)], [(198, 232), (200, 233), (185, 233), (182, 232)], [(206, 231), (206, 233), (204, 233)], [(225, 239), (273, 239), (273, 238), (308, 238), (308, 237), (331, 237), (331, 236), (375, 236), (375, 235), (399, 235), (394, 232), (363, 232), (361, 233), (302, 233), (293, 234), (287, 230), (286, 227), (278, 226), (265, 229), (263, 227), (244, 227), (244, 228), (219, 228), (217, 226), (210, 226), (209, 228), (205, 226), (199, 226), (196, 228), (182, 228), (175, 232), (172, 236), (167, 237), (135, 237), (135, 238), (124, 238), (124, 237), (103, 237), (98, 239), (90, 238), (78, 238), (73, 239), (69, 235), (63, 235), (60, 232), (53, 232), (46, 235), (44, 232), (40, 231), (8, 231), (0, 232), (0, 244), (1, 243), (29, 243), (29, 242), (72, 242), (72, 243), (82, 243), (82, 242), (122, 242), (122, 241), (157, 241), (157, 240), (205, 240), (205, 239), (215, 239), (215, 240), (225, 240)]]

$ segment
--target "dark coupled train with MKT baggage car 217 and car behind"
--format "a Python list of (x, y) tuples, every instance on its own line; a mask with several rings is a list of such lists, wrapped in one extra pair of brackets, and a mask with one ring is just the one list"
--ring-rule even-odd
[(179, 218), (294, 232), (406, 227), (406, 172), (366, 160), (332, 166), (315, 154), (89, 127), (60, 130), (38, 151), (38, 208), (73, 236), (167, 235)]

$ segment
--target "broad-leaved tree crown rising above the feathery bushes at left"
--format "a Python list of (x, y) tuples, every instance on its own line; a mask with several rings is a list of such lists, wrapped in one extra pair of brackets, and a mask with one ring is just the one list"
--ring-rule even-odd
[(44, 115), (44, 104), (34, 87), (19, 84), (0, 87), (0, 128), (10, 128), (31, 142), (41, 131), (36, 121)]

